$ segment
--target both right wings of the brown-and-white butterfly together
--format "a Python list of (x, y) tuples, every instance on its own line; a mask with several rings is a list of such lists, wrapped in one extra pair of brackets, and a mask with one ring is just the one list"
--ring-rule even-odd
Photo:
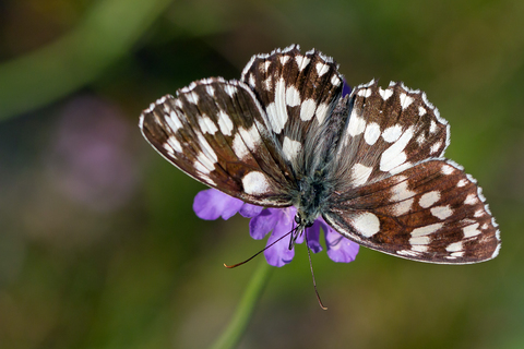
[(370, 249), (431, 263), (490, 260), (499, 230), (480, 188), (441, 156), (448, 122), (424, 93), (374, 82), (352, 93), (324, 219)]

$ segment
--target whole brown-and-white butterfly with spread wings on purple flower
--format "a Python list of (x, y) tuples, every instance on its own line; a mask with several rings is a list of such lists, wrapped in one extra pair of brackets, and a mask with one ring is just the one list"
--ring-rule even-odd
[(147, 142), (195, 180), (246, 203), (295, 206), (347, 239), (414, 261), (493, 258), (481, 189), (443, 157), (450, 125), (426, 94), (371, 81), (343, 95), (336, 62), (297, 45), (251, 58), (239, 81), (204, 79), (151, 104)]

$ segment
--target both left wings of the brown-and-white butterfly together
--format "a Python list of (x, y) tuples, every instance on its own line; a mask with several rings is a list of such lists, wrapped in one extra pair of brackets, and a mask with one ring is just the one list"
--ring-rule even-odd
[(342, 94), (333, 59), (298, 46), (253, 56), (241, 82), (209, 79), (158, 99), (141, 117), (147, 141), (194, 179), (264, 206), (291, 204), (290, 186), (327, 148), (325, 120)]

